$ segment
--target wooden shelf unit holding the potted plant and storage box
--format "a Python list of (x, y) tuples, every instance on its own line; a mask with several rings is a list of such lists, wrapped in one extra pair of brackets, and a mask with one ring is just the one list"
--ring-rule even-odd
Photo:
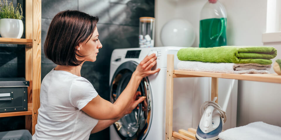
[(25, 0), (25, 38), (0, 38), (0, 43), (25, 45), (25, 79), (29, 81), (28, 111), (0, 113), (0, 117), (25, 115), (25, 129), (33, 135), (40, 107), (41, 0)]

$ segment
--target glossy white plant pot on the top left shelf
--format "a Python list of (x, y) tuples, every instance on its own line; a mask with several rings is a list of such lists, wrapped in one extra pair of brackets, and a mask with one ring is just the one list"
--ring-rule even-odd
[(0, 19), (0, 34), (6, 38), (21, 38), (23, 35), (23, 21), (11, 18)]

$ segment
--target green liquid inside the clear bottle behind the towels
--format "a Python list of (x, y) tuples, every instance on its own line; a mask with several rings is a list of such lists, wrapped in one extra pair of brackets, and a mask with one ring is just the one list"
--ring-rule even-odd
[(226, 45), (226, 18), (200, 20), (200, 48)]

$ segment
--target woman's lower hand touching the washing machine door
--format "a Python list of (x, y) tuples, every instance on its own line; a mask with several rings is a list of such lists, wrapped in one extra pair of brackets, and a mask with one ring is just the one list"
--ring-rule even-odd
[(143, 96), (143, 97), (140, 97), (140, 96), (141, 96), (141, 92), (137, 91), (136, 94), (134, 95), (131, 103), (124, 111), (124, 113), (123, 113), (124, 115), (130, 114), (138, 106), (138, 104), (140, 104), (145, 99), (145, 96)]

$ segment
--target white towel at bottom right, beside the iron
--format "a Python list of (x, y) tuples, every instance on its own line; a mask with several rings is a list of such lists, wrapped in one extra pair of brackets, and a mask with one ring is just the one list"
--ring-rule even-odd
[(221, 140), (280, 140), (281, 127), (264, 122), (227, 129), (219, 134)]

